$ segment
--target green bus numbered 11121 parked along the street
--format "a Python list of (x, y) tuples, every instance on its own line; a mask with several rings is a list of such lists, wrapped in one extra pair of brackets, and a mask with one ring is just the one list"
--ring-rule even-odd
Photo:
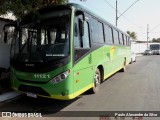
[(129, 36), (77, 4), (40, 9), (11, 27), (11, 86), (31, 97), (96, 93), (131, 61)]

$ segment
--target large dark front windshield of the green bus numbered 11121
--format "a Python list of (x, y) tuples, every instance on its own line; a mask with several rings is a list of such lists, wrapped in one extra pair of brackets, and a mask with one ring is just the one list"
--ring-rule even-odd
[(19, 26), (11, 58), (20, 62), (50, 62), (69, 55), (69, 11), (45, 14)]

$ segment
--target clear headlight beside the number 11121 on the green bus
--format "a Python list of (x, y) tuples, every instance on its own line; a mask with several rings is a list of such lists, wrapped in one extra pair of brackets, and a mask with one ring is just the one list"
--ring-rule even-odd
[(57, 84), (57, 83), (65, 80), (65, 79), (68, 77), (69, 74), (70, 74), (70, 70), (67, 70), (66, 72), (63, 72), (63, 73), (59, 74), (58, 76), (54, 77), (54, 78), (51, 80), (51, 82), (52, 82), (53, 84)]

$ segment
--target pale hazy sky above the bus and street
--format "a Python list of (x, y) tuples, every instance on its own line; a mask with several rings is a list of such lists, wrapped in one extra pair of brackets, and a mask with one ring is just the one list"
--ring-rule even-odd
[[(116, 25), (116, 0), (69, 0), (98, 14), (112, 25)], [(117, 0), (118, 28), (135, 32), (139, 41), (160, 38), (160, 0)], [(131, 8), (129, 8), (136, 2)], [(129, 9), (128, 9), (129, 8)], [(128, 9), (128, 10), (127, 10)], [(127, 10), (122, 16), (121, 14)]]

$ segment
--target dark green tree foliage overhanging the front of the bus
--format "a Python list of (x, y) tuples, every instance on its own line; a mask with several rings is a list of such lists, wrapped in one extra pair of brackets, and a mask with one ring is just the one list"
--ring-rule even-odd
[(68, 0), (0, 0), (0, 14), (12, 12), (17, 19), (21, 19), (26, 13), (38, 8), (66, 3)]

